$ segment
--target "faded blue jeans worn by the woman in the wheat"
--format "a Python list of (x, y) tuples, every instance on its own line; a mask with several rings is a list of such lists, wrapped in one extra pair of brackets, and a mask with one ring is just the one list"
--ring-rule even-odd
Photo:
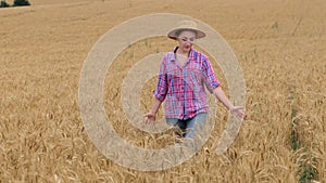
[[(200, 113), (197, 114), (193, 118), (181, 120), (177, 118), (165, 118), (166, 122), (170, 126), (178, 127), (179, 130), (176, 130), (175, 133), (188, 140), (192, 140), (193, 142), (196, 139), (200, 138), (200, 132), (203, 130), (203, 126), (205, 123), (208, 114)], [(199, 135), (199, 136), (198, 136)], [(198, 152), (198, 145), (196, 145), (196, 152)]]

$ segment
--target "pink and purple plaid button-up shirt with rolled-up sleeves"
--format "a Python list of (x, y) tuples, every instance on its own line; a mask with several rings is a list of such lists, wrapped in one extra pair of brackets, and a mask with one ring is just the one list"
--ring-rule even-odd
[(166, 118), (185, 120), (209, 112), (204, 84), (212, 93), (220, 81), (206, 55), (191, 49), (188, 62), (181, 67), (176, 61), (176, 50), (162, 58), (154, 96), (165, 101)]

